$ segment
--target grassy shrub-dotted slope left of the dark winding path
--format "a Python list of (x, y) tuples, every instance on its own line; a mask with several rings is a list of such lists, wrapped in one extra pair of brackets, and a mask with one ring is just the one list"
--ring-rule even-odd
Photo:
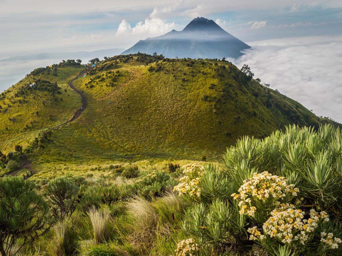
[[(38, 68), (0, 96), (1, 150), (26, 146), (38, 133), (71, 118), (81, 99), (68, 82), (83, 68), (54, 65)], [(30, 84), (36, 83), (34, 86)]]

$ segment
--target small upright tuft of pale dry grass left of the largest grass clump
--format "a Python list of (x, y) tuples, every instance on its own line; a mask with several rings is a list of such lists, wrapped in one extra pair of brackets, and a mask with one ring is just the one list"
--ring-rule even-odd
[(107, 208), (95, 209), (89, 211), (89, 217), (93, 226), (95, 243), (106, 241), (110, 233), (110, 212)]

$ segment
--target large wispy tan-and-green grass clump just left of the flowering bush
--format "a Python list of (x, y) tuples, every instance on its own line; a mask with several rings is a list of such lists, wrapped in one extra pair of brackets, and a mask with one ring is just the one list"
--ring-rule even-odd
[(152, 201), (140, 197), (130, 199), (127, 203), (128, 240), (139, 247), (142, 254), (173, 254), (183, 208), (181, 199), (172, 192)]

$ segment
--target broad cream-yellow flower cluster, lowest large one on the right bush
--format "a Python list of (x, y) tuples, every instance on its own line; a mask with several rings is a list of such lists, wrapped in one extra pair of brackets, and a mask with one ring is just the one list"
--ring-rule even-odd
[(256, 227), (248, 229), (252, 235), (250, 240), (263, 240), (265, 236), (275, 238), (282, 243), (299, 242), (305, 244), (320, 221), (329, 221), (328, 214), (324, 211), (320, 213), (314, 209), (310, 210), (310, 218), (304, 219), (304, 212), (300, 209), (293, 209), (293, 205), (284, 210), (285, 204), (281, 205), (281, 210), (276, 209), (271, 212), (271, 217), (263, 225), (264, 235)]

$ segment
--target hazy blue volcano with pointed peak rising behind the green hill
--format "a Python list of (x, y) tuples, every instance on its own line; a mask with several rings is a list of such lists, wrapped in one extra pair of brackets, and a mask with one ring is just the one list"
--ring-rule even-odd
[(140, 40), (122, 54), (137, 52), (163, 54), (167, 58), (238, 58), (241, 51), (250, 48), (241, 40), (226, 32), (213, 20), (197, 17), (183, 30), (159, 37)]

